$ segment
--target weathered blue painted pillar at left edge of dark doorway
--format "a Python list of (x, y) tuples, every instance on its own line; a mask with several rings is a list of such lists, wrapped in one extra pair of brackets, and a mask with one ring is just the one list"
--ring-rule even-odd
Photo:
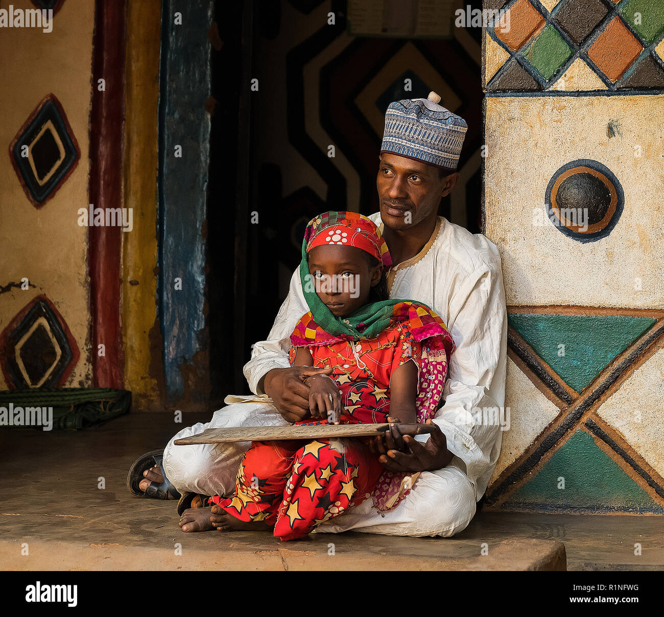
[[(205, 401), (205, 207), (212, 0), (164, 0), (159, 74), (159, 313), (166, 392)], [(230, 180), (230, 179), (229, 179)], [(217, 241), (232, 241), (228, 236)]]

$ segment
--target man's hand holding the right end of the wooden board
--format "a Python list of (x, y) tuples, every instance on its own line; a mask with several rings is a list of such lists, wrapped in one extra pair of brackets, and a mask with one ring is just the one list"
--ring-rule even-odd
[[(389, 422), (398, 422), (398, 420), (388, 417)], [(378, 460), (388, 471), (399, 472), (418, 472), (434, 471), (442, 469), (452, 460), (454, 454), (448, 450), (448, 441), (445, 433), (432, 420), (427, 420), (428, 425), (434, 426), (434, 433), (429, 440), (422, 443), (415, 441), (410, 435), (401, 435), (396, 426), (390, 427), (385, 431), (385, 435), (376, 437), (376, 441), (370, 444), (371, 450), (378, 454)], [(406, 449), (410, 452), (400, 450)]]

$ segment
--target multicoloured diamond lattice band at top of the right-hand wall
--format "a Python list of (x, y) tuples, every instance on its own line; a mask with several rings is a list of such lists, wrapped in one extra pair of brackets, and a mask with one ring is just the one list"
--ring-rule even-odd
[(487, 27), (487, 92), (664, 88), (664, 0), (485, 5), (509, 12)]

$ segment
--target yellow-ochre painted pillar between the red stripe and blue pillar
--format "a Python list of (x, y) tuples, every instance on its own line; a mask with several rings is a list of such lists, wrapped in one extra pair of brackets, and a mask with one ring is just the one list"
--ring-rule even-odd
[(157, 105), (161, 0), (127, 5), (124, 204), (133, 229), (122, 245), (125, 388), (139, 408), (161, 407), (161, 332), (157, 323)]

